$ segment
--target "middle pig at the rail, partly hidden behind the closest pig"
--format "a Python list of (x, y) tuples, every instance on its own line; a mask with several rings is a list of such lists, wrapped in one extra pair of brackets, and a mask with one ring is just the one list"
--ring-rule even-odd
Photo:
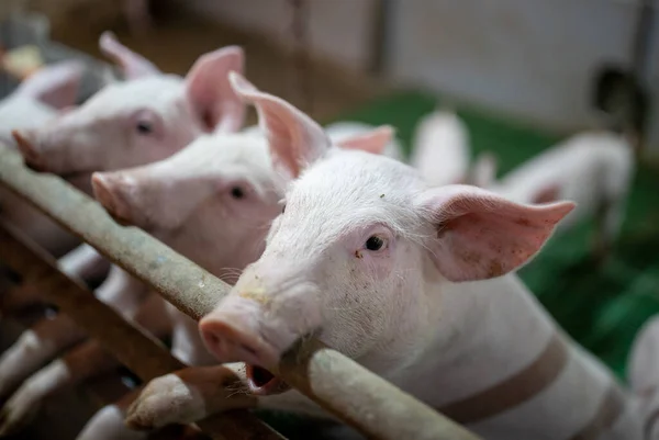
[[(393, 131), (383, 126), (360, 135), (339, 135), (342, 140), (337, 144), (344, 148), (379, 150), (391, 144), (392, 135)], [(97, 199), (122, 223), (142, 227), (211, 272), (234, 281), (237, 268), (260, 255), (268, 224), (280, 211), (282, 194), (265, 138), (250, 134), (201, 136), (166, 160), (132, 170), (94, 173), (92, 182)], [(225, 227), (217, 227), (219, 219)], [(209, 248), (212, 242), (224, 245)], [(105, 296), (100, 294), (107, 303), (116, 303)], [(127, 307), (122, 302), (123, 313)], [(214, 363), (198, 337), (197, 323), (176, 309), (170, 309), (170, 314), (175, 326), (172, 354), (188, 364)], [(5, 427), (0, 425), (0, 431), (24, 425), (34, 414), (27, 406), (40, 407), (47, 396), (88, 377), (92, 371), (89, 365), (98, 369), (97, 373), (114, 366), (99, 347), (93, 349), (91, 342), (87, 346), (79, 349), (85, 357), (66, 354), (64, 362), (55, 361), (30, 377), (9, 399), (4, 408)], [(110, 425), (107, 418), (115, 414), (103, 410), (97, 424), (107, 427)], [(92, 428), (93, 425), (88, 427), (89, 432), (94, 432)]]

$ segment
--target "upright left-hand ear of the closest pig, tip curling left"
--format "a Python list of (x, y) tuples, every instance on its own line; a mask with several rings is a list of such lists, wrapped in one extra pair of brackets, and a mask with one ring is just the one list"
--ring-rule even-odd
[(330, 148), (330, 138), (311, 117), (284, 100), (264, 93), (236, 72), (230, 74), (236, 93), (253, 103), (266, 134), (273, 165), (289, 177), (300, 172)]

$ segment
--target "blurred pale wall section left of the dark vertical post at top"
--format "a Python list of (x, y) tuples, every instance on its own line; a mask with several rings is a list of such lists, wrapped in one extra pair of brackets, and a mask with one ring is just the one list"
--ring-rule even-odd
[[(246, 30), (290, 42), (292, 12), (287, 0), (182, 0), (188, 8)], [(322, 56), (366, 69), (372, 42), (373, 0), (308, 0), (310, 44)]]

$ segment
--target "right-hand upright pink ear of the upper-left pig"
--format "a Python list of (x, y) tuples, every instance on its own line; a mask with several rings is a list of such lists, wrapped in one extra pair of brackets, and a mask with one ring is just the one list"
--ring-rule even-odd
[(227, 46), (201, 56), (186, 78), (188, 100), (206, 132), (234, 133), (245, 122), (245, 103), (228, 82), (228, 72), (243, 71), (245, 55)]

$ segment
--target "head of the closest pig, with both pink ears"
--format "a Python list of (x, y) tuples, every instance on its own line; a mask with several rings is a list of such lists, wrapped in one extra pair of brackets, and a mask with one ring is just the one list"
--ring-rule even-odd
[[(403, 331), (416, 308), (414, 295), (403, 292), (418, 289), (414, 280), (422, 275), (413, 274), (426, 266), (424, 258), (451, 282), (503, 275), (533, 257), (573, 207), (518, 205), (470, 187), (427, 190), (399, 162), (328, 148), (322, 128), (303, 113), (237, 75), (232, 81), (257, 106), (275, 165), (301, 178), (286, 195), (287, 210), (272, 224), (261, 258), (200, 323), (206, 347), (222, 362), (273, 365), (297, 339), (319, 329), (326, 343), (354, 358), (402, 362), (421, 337), (421, 329)], [(316, 161), (302, 173), (304, 163)], [(350, 292), (359, 291), (368, 294), (357, 301)], [(349, 338), (346, 328), (370, 336)], [(382, 343), (395, 356), (378, 353)], [(276, 381), (253, 383), (253, 392), (278, 388)]]

